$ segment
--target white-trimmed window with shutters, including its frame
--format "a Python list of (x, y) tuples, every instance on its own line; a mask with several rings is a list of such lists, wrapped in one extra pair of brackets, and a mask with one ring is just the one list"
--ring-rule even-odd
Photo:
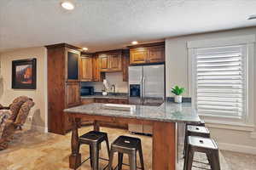
[(188, 42), (189, 95), (206, 122), (254, 125), (255, 35)]

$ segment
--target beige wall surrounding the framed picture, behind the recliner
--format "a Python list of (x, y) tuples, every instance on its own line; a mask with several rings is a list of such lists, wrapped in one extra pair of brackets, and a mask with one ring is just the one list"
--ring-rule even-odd
[[(16, 59), (37, 59), (37, 89), (13, 89), (12, 82), (12, 61)], [(26, 95), (33, 99), (35, 105), (30, 111), (32, 122), (26, 120), (25, 127), (37, 128), (39, 131), (44, 131), (47, 123), (47, 70), (46, 70), (46, 48), (23, 48), (12, 52), (0, 54), (1, 69), (0, 75), (3, 77), (0, 80), (0, 103), (9, 105), (12, 101), (20, 96)]]

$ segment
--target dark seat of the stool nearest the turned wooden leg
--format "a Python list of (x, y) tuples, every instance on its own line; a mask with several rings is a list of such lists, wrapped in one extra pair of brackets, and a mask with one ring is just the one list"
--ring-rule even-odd
[(102, 133), (98, 131), (90, 131), (89, 133), (84, 133), (79, 137), (81, 142), (102, 142), (107, 136), (107, 133)]

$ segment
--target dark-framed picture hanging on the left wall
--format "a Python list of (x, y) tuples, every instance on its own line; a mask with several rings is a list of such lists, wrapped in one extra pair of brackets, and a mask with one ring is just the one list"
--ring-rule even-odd
[(37, 59), (20, 59), (13, 61), (12, 88), (37, 88)]

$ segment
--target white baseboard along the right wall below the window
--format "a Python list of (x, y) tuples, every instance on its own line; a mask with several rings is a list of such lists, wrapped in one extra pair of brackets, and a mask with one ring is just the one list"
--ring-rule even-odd
[(253, 146), (218, 143), (218, 148), (219, 150), (230, 150), (230, 151), (256, 155), (256, 147), (253, 147)]

